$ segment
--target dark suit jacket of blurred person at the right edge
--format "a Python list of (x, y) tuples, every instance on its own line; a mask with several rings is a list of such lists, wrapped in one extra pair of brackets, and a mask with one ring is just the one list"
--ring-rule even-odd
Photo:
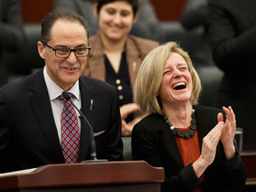
[(213, 59), (224, 71), (216, 108), (231, 105), (244, 129), (244, 150), (255, 150), (256, 2), (209, 0)]

